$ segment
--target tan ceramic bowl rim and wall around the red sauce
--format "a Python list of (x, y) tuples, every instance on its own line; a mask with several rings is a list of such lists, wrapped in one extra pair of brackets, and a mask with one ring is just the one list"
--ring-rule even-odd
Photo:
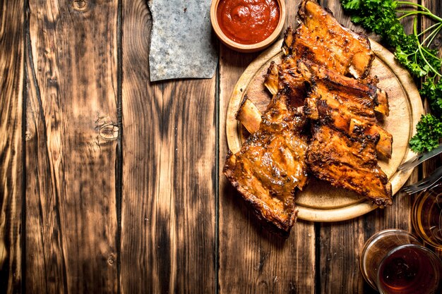
[(260, 51), (262, 49), (265, 49), (266, 47), (269, 47), (270, 44), (275, 42), (275, 40), (280, 36), (282, 29), (284, 28), (285, 23), (285, 15), (286, 15), (286, 9), (285, 9), (285, 1), (284, 0), (277, 0), (277, 4), (280, 6), (280, 19), (278, 21), (277, 27), (273, 31), (272, 34), (270, 34), (266, 39), (264, 39), (261, 42), (258, 42), (256, 44), (240, 44), (237, 42), (234, 42), (232, 39), (229, 39), (221, 30), (220, 25), (217, 21), (217, 8), (218, 4), (220, 4), (221, 0), (213, 0), (212, 6), (210, 6), (210, 20), (212, 22), (213, 30), (215, 31), (215, 34), (217, 37), (221, 40), (223, 44), (225, 44), (227, 47), (234, 49), (236, 51), (240, 52), (255, 52)]

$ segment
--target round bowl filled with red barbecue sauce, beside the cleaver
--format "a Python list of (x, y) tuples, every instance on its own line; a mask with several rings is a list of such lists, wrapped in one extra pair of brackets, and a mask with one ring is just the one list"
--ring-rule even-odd
[(280, 36), (285, 22), (284, 0), (213, 0), (210, 20), (227, 47), (254, 52)]

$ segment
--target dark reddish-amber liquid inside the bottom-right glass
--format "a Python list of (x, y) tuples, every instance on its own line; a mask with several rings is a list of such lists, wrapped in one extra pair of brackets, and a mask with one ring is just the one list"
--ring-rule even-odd
[(442, 293), (441, 264), (416, 247), (402, 247), (388, 255), (378, 273), (381, 293)]

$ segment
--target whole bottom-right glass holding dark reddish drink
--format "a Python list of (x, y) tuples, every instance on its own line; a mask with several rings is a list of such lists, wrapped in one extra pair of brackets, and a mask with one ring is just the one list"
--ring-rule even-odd
[(407, 231), (388, 229), (371, 236), (360, 264), (367, 283), (380, 293), (442, 293), (441, 259)]

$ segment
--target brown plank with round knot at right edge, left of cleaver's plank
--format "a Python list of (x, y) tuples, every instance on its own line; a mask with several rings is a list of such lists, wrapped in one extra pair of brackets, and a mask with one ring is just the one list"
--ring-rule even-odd
[(29, 293), (117, 292), (117, 2), (29, 2)]

